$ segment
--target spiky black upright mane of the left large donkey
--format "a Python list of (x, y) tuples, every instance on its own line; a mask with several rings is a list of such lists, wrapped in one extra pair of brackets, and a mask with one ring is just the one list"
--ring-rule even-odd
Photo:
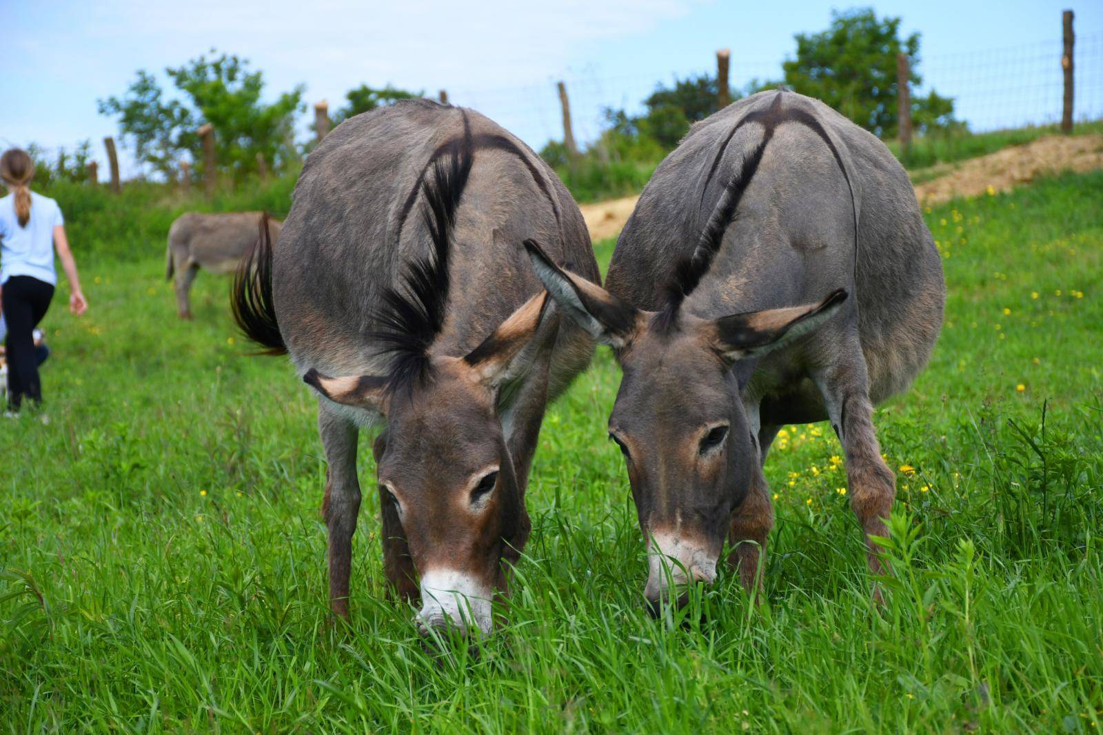
[(429, 348), (445, 326), (448, 308), (448, 257), (456, 212), (473, 162), (471, 128), (464, 114), (463, 137), (441, 146), (430, 160), (431, 185), (422, 173), (415, 187), (415, 192), (425, 194), (421, 217), (432, 252), (415, 257), (400, 285), (384, 290), (383, 306), (375, 312), (379, 329), (368, 335), (381, 343), (382, 354), (390, 355), (388, 394), (408, 394), (416, 382), (429, 376)]

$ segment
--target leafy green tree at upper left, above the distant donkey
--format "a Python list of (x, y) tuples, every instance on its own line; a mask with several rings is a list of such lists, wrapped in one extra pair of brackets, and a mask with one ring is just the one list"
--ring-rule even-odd
[(248, 61), (228, 54), (200, 56), (165, 73), (182, 99), (167, 100), (157, 79), (139, 71), (121, 98), (99, 102), (100, 114), (119, 117), (122, 139), (133, 146), (138, 160), (167, 177), (175, 174), (184, 152), (202, 166), (195, 130), (205, 122), (215, 129), (219, 168), (235, 177), (256, 170), (257, 153), (274, 168), (297, 157), (293, 125), (303, 110), (301, 85), (266, 104), (260, 99), (264, 74), (250, 72)]

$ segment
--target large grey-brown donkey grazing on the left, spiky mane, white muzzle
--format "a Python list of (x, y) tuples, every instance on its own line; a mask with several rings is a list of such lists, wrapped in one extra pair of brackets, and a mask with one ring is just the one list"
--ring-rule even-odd
[(593, 352), (547, 308), (526, 237), (599, 281), (581, 213), (532, 150), (476, 113), (411, 100), (326, 136), (279, 243), (263, 237), (243, 263), (238, 323), (287, 350), (320, 396), (334, 612), (349, 615), (358, 428), (385, 418), (374, 451), (387, 578), (404, 598), (420, 592), (422, 630), (491, 629), (502, 562), (531, 529), (545, 406)]

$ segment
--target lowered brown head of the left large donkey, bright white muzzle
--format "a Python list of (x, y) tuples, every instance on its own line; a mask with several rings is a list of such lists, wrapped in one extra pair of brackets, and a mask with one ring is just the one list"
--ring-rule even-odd
[[(546, 312), (531, 299), (464, 356), (427, 353), (416, 371), (389, 376), (303, 380), (325, 398), (386, 417), (376, 444), (382, 512), (400, 528), (420, 578), (422, 630), (492, 627), (531, 528), (497, 415), (500, 387), (525, 370)], [(411, 584), (413, 580), (399, 580)]]

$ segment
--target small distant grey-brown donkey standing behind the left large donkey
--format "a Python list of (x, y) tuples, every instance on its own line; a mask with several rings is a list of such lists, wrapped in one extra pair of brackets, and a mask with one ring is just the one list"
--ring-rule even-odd
[[(176, 316), (192, 318), (189, 292), (200, 268), (212, 273), (232, 273), (237, 269), (253, 244), (257, 242), (260, 212), (233, 212), (229, 214), (200, 214), (188, 212), (176, 217), (169, 227), (169, 247), (165, 278), (172, 278), (176, 291)], [(282, 224), (269, 220), (272, 237), (279, 235)]]

